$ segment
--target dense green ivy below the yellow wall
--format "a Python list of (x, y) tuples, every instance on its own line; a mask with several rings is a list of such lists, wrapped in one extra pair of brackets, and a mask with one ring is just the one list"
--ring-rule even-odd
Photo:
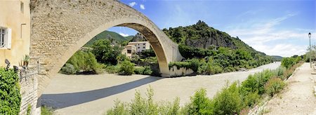
[(0, 67), (0, 114), (18, 114), (20, 112), (19, 76), (13, 69)]

